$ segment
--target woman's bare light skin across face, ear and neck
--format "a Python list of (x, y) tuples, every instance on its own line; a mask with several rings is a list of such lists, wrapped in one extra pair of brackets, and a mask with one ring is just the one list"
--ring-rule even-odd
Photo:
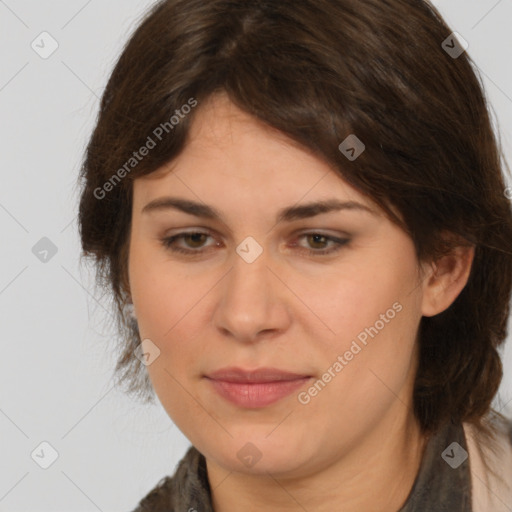
[[(396, 512), (427, 441), (412, 412), (419, 322), (455, 300), (473, 248), (420, 265), (412, 240), (326, 162), (222, 94), (196, 115), (179, 157), (134, 182), (129, 287), (141, 338), (160, 350), (147, 366), (159, 400), (206, 457), (216, 512)], [(169, 195), (211, 205), (223, 221), (142, 212)], [(376, 215), (342, 210), (275, 223), (281, 208), (327, 198)], [(162, 243), (194, 230), (210, 236), (175, 245), (199, 255)], [(308, 254), (335, 244), (304, 233), (349, 242)], [(248, 236), (263, 249), (252, 263), (236, 252)], [(240, 408), (203, 378), (226, 366), (271, 366), (312, 375), (307, 391), (397, 302), (400, 312), (305, 405), (299, 390)], [(251, 467), (237, 457), (247, 442), (261, 454)]]

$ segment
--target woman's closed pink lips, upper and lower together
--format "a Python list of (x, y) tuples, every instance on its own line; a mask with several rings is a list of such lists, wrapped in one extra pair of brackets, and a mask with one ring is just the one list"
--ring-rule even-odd
[(254, 409), (283, 399), (307, 383), (312, 376), (276, 368), (223, 368), (205, 378), (225, 400), (238, 407)]

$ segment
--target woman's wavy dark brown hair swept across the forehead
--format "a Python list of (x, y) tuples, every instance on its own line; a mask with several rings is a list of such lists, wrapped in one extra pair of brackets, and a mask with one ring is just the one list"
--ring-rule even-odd
[[(154, 5), (108, 81), (81, 170), (83, 251), (113, 292), (116, 374), (127, 392), (154, 397), (134, 355), (137, 324), (124, 314), (132, 181), (184, 148), (197, 109), (171, 123), (177, 109), (201, 108), (223, 91), (378, 204), (411, 236), (419, 261), (475, 245), (465, 288), (447, 310), (421, 319), (414, 412), (425, 432), (450, 420), (485, 430), (502, 379), (512, 212), (481, 78), (467, 53), (443, 48), (451, 32), (419, 0)], [(353, 161), (338, 147), (350, 134), (365, 144)], [(149, 138), (156, 145), (132, 161)]]

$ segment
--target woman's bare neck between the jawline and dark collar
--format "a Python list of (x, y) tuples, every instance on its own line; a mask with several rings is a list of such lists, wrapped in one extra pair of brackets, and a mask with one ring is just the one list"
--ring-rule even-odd
[(357, 447), (305, 477), (230, 472), (207, 459), (215, 512), (397, 512), (414, 485), (427, 438), (399, 400), (388, 412)]

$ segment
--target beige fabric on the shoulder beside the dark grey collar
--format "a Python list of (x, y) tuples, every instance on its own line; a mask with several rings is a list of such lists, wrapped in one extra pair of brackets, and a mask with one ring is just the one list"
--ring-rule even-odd
[(464, 423), (474, 512), (509, 512), (512, 508), (512, 419), (501, 415), (490, 421), (494, 435), (482, 434)]

